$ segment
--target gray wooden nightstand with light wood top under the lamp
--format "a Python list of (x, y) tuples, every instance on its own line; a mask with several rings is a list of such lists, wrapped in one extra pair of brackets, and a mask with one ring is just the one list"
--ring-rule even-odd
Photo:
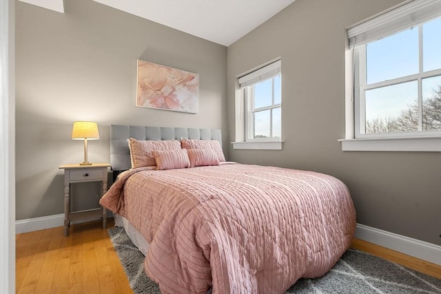
[[(72, 220), (88, 220), (101, 216), (103, 229), (107, 224), (107, 211), (104, 207), (87, 211), (70, 211), (70, 184), (75, 182), (103, 182), (102, 195), (107, 191), (107, 168), (108, 163), (92, 163), (92, 165), (69, 164), (61, 165), (64, 169), (64, 235), (69, 235), (70, 222)], [(101, 196), (102, 196), (101, 195)]]

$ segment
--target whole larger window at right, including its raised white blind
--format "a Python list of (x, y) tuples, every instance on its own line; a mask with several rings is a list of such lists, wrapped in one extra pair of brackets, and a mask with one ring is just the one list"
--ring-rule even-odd
[(441, 1), (404, 4), (350, 28), (348, 36), (353, 134), (347, 132), (347, 139), (383, 144), (388, 138), (441, 137)]

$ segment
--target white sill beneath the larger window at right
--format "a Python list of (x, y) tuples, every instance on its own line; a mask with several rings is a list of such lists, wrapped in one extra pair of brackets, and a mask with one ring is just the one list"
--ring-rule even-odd
[(340, 139), (342, 151), (440, 152), (441, 136)]

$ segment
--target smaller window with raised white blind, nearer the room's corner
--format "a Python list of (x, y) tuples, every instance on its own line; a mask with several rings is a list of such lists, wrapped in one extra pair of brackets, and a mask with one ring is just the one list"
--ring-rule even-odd
[(240, 94), (245, 99), (245, 141), (282, 138), (282, 76), (280, 60), (241, 76)]

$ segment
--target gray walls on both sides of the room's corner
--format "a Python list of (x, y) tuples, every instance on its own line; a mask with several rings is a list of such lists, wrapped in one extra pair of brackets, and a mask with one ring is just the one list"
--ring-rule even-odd
[[(99, 123), (92, 162), (109, 160), (112, 123), (220, 127), (229, 160), (334, 175), (347, 183), (360, 224), (441, 244), (439, 154), (343, 152), (337, 141), (345, 28), (399, 2), (296, 0), (227, 50), (91, 0), (65, 0), (65, 14), (17, 1), (17, 220), (63, 213), (58, 167), (83, 160), (83, 143), (70, 139), (74, 120)], [(235, 76), (277, 56), (284, 149), (233, 150)], [(200, 74), (199, 114), (135, 107), (136, 59)], [(79, 209), (96, 203), (81, 198), (91, 187), (75, 188)]]

